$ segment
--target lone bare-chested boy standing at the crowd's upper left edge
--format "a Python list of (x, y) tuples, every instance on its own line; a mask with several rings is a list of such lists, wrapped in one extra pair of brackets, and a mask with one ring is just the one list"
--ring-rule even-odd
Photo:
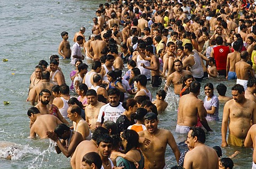
[(71, 57), (71, 49), (70, 49), (70, 44), (68, 41), (68, 32), (63, 31), (60, 33), (62, 37), (62, 41), (59, 45), (59, 50), (58, 53), (63, 57), (63, 59), (70, 58)]

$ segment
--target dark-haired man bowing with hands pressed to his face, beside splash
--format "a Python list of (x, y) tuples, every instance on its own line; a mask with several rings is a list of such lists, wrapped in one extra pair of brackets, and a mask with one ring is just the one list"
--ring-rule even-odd
[(72, 131), (66, 124), (58, 124), (54, 131), (46, 131), (46, 135), (55, 141), (57, 154), (62, 152), (67, 158), (72, 157), (76, 147), (83, 141), (82, 134)]

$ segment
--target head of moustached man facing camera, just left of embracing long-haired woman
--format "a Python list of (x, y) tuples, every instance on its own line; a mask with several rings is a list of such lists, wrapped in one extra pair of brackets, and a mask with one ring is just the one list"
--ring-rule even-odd
[(102, 134), (97, 139), (97, 148), (99, 150), (99, 155), (103, 158), (108, 158), (108, 156), (111, 154), (112, 146), (113, 138), (111, 138), (109, 134)]

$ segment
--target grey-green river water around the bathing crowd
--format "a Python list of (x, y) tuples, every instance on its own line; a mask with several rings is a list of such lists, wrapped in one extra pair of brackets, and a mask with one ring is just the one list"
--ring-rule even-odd
[[(88, 39), (92, 18), (99, 0), (45, 0), (45, 1), (2, 1), (0, 2), (0, 168), (70, 168), (69, 158), (56, 154), (50, 140), (31, 140), (29, 136), (29, 118), (27, 109), (31, 106), (25, 102), (28, 94), (29, 77), (34, 67), (42, 59), (49, 62), (49, 57), (58, 54), (58, 46), (62, 31), (69, 32), (70, 45), (73, 45), (75, 32), (85, 26), (85, 36)], [(3, 59), (7, 62), (2, 62)], [(69, 73), (74, 69), (68, 60), (60, 60), (60, 66), (70, 85)], [(86, 62), (90, 65), (90, 62)], [(89, 66), (90, 67), (90, 66)], [(205, 80), (202, 86), (209, 81)], [(214, 87), (220, 79), (210, 80)], [(227, 95), (235, 81), (225, 81), (228, 86)], [(150, 87), (149, 87), (150, 88)], [(203, 89), (203, 88), (202, 88)], [(155, 97), (158, 89), (150, 88)], [(170, 91), (170, 90), (169, 90)], [(204, 98), (204, 92), (199, 96)], [(168, 93), (167, 111), (159, 115), (159, 128), (170, 130), (177, 142), (186, 139), (186, 135), (175, 133), (177, 123), (178, 98)], [(9, 105), (4, 105), (9, 101)], [(220, 104), (220, 119), (222, 119), (223, 103)], [(221, 121), (210, 122), (214, 130), (207, 133), (206, 145), (211, 147), (221, 145)], [(14, 148), (12, 160), (4, 159), (7, 150)], [(184, 148), (180, 148), (181, 151)], [(235, 168), (250, 168), (252, 150), (247, 148), (223, 148), (223, 157), (230, 156), (236, 150), (241, 151), (233, 158)], [(195, 157), (196, 158), (196, 157)], [(176, 164), (170, 147), (166, 150), (166, 163), (169, 168)]]

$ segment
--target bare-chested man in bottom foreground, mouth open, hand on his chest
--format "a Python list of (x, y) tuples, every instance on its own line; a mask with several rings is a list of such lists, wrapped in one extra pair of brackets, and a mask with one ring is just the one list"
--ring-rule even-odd
[(159, 120), (155, 113), (147, 113), (144, 120), (147, 130), (139, 132), (139, 136), (145, 138), (140, 143), (140, 150), (145, 158), (145, 168), (166, 168), (165, 149), (167, 144), (171, 147), (178, 162), (180, 151), (172, 133), (169, 130), (157, 128)]

